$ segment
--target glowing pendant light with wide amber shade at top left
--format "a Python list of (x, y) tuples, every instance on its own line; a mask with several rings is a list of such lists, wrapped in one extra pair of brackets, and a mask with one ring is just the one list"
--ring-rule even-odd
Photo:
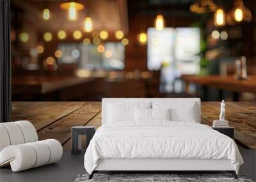
[(84, 4), (79, 3), (79, 1), (71, 0), (65, 1), (65, 3), (60, 4), (60, 8), (62, 10), (68, 11), (67, 19), (69, 21), (76, 21), (77, 20), (77, 11), (84, 9)]

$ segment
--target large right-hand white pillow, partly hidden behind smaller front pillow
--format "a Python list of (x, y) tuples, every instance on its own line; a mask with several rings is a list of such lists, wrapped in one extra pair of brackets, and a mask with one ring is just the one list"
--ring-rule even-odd
[(153, 109), (171, 109), (172, 121), (196, 122), (199, 116), (195, 102), (152, 102)]

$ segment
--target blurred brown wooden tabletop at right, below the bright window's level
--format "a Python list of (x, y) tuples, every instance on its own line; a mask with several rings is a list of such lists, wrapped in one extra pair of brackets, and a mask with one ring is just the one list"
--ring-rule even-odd
[(248, 75), (246, 80), (237, 80), (233, 75), (182, 75), (181, 79), (187, 84), (195, 83), (229, 91), (256, 93), (256, 75)]

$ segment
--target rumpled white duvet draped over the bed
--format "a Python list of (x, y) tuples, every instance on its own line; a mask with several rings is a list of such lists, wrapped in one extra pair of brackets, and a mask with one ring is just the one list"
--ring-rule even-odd
[(237, 173), (243, 164), (230, 137), (207, 125), (177, 121), (102, 125), (84, 155), (86, 171), (92, 174), (106, 158), (229, 159)]

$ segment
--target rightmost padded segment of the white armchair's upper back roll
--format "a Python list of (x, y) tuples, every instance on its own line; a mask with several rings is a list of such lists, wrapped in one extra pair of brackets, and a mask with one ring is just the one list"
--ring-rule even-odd
[(20, 126), (25, 139), (25, 143), (38, 141), (36, 129), (35, 129), (35, 126), (32, 125), (32, 123), (26, 120), (15, 121), (14, 123), (17, 123)]

